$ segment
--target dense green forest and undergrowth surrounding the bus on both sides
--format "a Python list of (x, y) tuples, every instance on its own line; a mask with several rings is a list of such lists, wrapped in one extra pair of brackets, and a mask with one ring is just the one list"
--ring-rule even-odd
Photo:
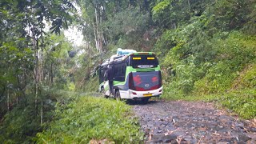
[(141, 142), (130, 106), (90, 97), (119, 47), (157, 54), (162, 98), (256, 117), (255, 0), (2, 0), (0, 18), (0, 142)]

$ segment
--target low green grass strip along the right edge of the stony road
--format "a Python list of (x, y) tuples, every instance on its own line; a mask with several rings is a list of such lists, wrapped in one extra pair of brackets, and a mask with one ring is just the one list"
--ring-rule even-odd
[(185, 100), (190, 102), (203, 101), (214, 102), (218, 106), (232, 110), (244, 119), (256, 118), (256, 90), (233, 90), (221, 94), (168, 94), (165, 92), (162, 98), (167, 100)]

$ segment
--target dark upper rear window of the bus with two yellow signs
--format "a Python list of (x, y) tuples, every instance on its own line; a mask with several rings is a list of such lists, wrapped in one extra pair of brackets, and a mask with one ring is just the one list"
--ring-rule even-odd
[(131, 55), (130, 65), (133, 68), (157, 67), (158, 59), (154, 55)]

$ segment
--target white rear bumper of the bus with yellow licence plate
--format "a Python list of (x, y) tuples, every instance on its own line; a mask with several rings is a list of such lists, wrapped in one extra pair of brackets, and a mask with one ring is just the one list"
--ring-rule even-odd
[(120, 90), (120, 96), (123, 99), (159, 97), (161, 94), (162, 94), (162, 86), (157, 90), (150, 90), (150, 91)]

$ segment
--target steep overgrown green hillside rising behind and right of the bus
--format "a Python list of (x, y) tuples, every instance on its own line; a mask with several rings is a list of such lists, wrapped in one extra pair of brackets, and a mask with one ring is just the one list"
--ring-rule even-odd
[(255, 118), (255, 4), (166, 0), (122, 5), (116, 14), (106, 12), (101, 29), (106, 46), (98, 49), (105, 57), (94, 64), (118, 47), (153, 51), (162, 66), (162, 98), (217, 102), (242, 118)]

